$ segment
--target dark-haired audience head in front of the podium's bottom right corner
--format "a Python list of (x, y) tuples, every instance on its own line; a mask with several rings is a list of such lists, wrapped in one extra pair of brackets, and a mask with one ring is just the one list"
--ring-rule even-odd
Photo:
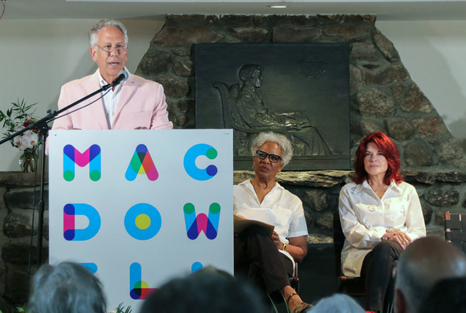
[(261, 299), (247, 282), (207, 267), (162, 285), (147, 297), (139, 313), (263, 313)]

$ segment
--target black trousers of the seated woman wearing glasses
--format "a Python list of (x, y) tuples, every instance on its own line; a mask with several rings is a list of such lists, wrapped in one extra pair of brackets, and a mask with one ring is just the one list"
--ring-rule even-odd
[(234, 275), (247, 276), (274, 301), (283, 301), (281, 290), (290, 285), (293, 263), (277, 250), (270, 235), (260, 226), (249, 226), (234, 234)]

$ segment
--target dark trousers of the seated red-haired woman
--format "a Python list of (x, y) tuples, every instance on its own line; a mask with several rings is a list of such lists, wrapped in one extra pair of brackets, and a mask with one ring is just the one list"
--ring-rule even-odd
[(381, 241), (362, 262), (361, 277), (365, 279), (364, 309), (383, 312), (393, 303), (393, 269), (398, 263), (403, 248), (393, 240)]

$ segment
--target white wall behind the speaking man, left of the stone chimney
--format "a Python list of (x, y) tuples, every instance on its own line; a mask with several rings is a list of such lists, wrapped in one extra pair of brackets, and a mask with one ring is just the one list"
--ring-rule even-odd
[[(38, 102), (36, 115), (56, 109), (64, 83), (92, 74), (97, 66), (89, 53), (87, 32), (98, 20), (38, 19), (0, 21), (0, 109), (23, 99)], [(161, 21), (123, 20), (128, 30), (126, 67), (136, 70)], [(0, 134), (3, 133), (1, 130)], [(0, 146), (0, 171), (20, 170), (20, 152)]]

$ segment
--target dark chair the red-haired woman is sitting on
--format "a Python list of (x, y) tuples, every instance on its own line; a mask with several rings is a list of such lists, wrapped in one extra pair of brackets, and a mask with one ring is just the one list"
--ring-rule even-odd
[(335, 251), (335, 274), (337, 277), (337, 292), (349, 296), (362, 297), (365, 294), (364, 280), (360, 277), (349, 277), (342, 273), (342, 250), (345, 243), (340, 215), (333, 212), (333, 247)]

